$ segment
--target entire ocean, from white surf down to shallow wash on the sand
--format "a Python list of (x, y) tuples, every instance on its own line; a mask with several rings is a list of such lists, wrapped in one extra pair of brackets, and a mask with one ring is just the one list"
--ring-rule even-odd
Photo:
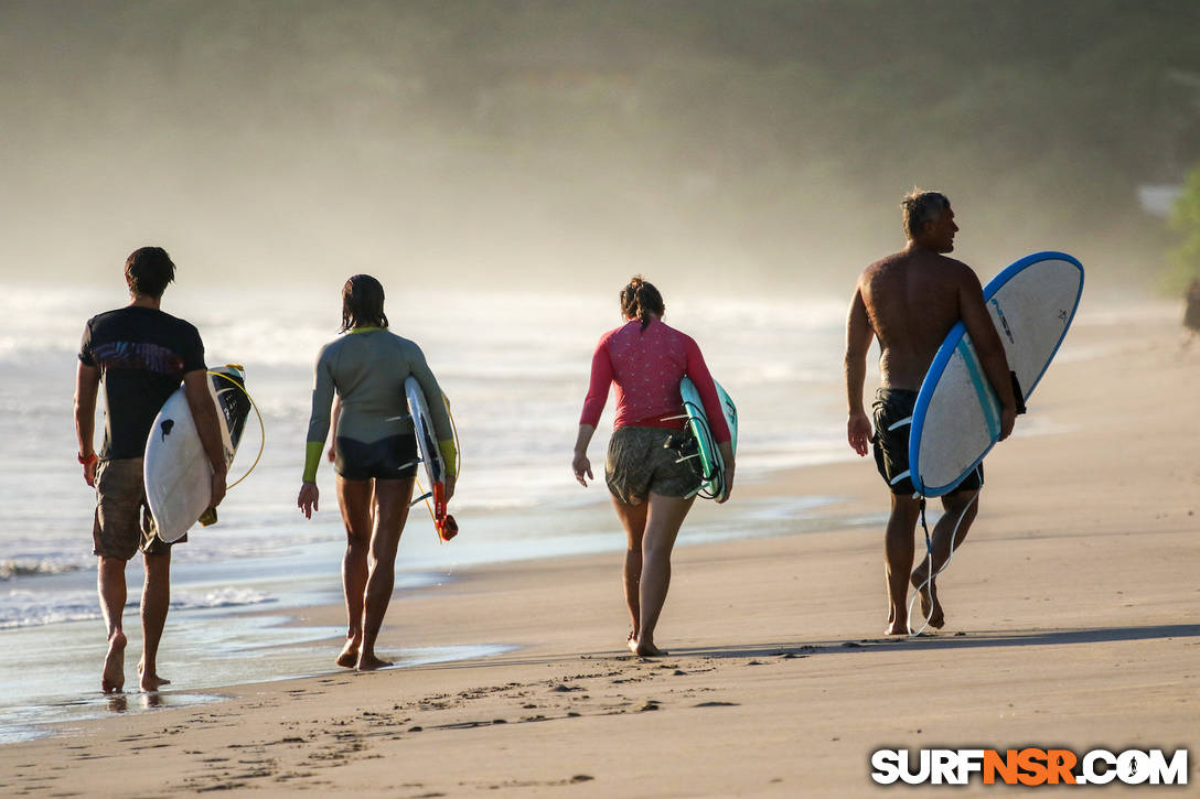
[[(83, 324), (125, 305), (121, 288), (0, 286), (0, 637), (7, 639), (0, 651), (10, 653), (0, 655), (0, 679), (10, 687), (0, 697), (0, 726), (25, 731), (31, 721), (109, 708), (79, 698), (96, 689), (103, 625), (90, 539), (95, 499), (74, 458), (72, 394)], [(246, 654), (254, 647), (238, 645), (246, 629), (256, 631), (263, 647), (275, 647), (272, 653), (284, 639), (300, 647), (344, 633), (300, 632), (284, 624), (295, 608), (341, 602), (344, 533), (330, 464), (318, 474), (320, 511), (306, 521), (295, 506), (312, 364), (320, 346), (337, 335), (338, 288), (275, 292), (269, 304), (254, 293), (229, 299), (178, 286), (164, 298), (164, 311), (199, 328), (210, 365), (245, 366), (265, 429), (264, 439), (252, 414), (232, 475), (248, 469), (262, 445), (258, 465), (229, 492), (221, 521), (194, 529), (191, 541), (174, 552), (161, 657), (164, 673), (176, 677), (176, 703), (187, 701), (179, 698), (187, 691), (221, 684), (212, 674), (228, 684), (328, 669), (331, 643), (316, 645), (311, 660), (252, 657)], [(584, 489), (570, 471), (592, 352), (600, 335), (620, 323), (614, 296), (461, 292), (440, 295), (436, 307), (415, 300), (390, 294), (389, 319), (392, 330), (422, 347), (450, 398), (463, 452), (451, 510), (462, 533), (440, 545), (427, 512), (414, 507), (397, 561), (398, 595), (436, 589), (468, 565), (620, 551), (623, 534), (602, 483), (611, 400), (590, 447), (600, 482)], [(841, 433), (844, 313), (844, 301), (834, 299), (715, 306), (670, 298), (667, 322), (700, 342), (713, 373), (738, 402), (740, 481), (852, 457)], [(743, 500), (725, 507), (701, 503), (680, 545), (824, 525), (822, 509), (833, 499)], [(137, 626), (140, 581), (134, 559), (127, 631)], [(389, 614), (389, 624), (396, 613)], [(214, 625), (214, 618), (226, 621)], [(277, 635), (262, 635), (264, 618)], [(212, 635), (224, 636), (223, 643), (209, 641)], [(202, 639), (205, 647), (197, 644)], [(55, 660), (64, 642), (78, 653), (66, 663)], [(11, 655), (16, 648), (25, 653), (19, 663)], [(401, 662), (421, 660), (409, 650), (390, 654)], [(38, 657), (48, 662), (30, 662)], [(136, 655), (127, 660), (132, 667)]]

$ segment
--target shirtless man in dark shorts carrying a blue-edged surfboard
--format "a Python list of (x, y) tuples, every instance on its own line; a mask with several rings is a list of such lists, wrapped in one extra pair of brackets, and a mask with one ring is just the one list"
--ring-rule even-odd
[[(859, 456), (874, 444), (880, 474), (892, 491), (892, 515), (884, 537), (884, 565), (888, 584), (887, 635), (908, 632), (908, 582), (914, 588), (925, 583), (929, 560), (910, 573), (913, 561), (913, 536), (920, 513), (920, 499), (908, 480), (908, 425), (925, 372), (946, 334), (960, 319), (974, 343), (979, 361), (1001, 403), (1003, 440), (1013, 431), (1016, 403), (1008, 371), (1008, 360), (996, 328), (983, 301), (979, 278), (966, 264), (942, 253), (954, 250), (954, 223), (950, 202), (937, 192), (913, 190), (901, 203), (908, 245), (868, 266), (858, 278), (846, 320), (846, 395), (850, 417), (846, 435)], [(863, 409), (863, 382), (866, 376), (866, 352), (871, 338), (880, 338), (880, 383), (871, 419)], [(898, 425), (898, 422), (901, 422)], [(895, 427), (895, 429), (889, 429)], [(950, 535), (955, 524), (954, 546), (962, 543), (979, 510), (972, 501), (983, 486), (983, 467), (967, 476), (958, 488), (942, 497), (946, 513), (934, 528), (934, 573), (950, 557)], [(922, 615), (929, 624), (946, 624), (937, 601), (935, 581), (920, 595)]]

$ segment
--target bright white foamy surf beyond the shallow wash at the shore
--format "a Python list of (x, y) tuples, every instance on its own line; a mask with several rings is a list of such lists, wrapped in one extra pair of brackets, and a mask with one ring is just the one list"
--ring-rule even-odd
[[(325, 492), (322, 511), (305, 521), (295, 507), (312, 362), (319, 347), (336, 336), (336, 290), (331, 296), (276, 296), (270, 307), (252, 296), (218, 302), (215, 295), (180, 289), (176, 298), (175, 292), (168, 292), (164, 310), (197, 324), (209, 364), (246, 367), (265, 428), (263, 441), (251, 416), (233, 477), (250, 468), (260, 444), (262, 458), (230, 491), (220, 509), (221, 522), (193, 531), (192, 543), (176, 549), (180, 570), (186, 573), (198, 563), (235, 569), (247, 558), (341, 541), (329, 464), (318, 477)], [(592, 350), (599, 335), (619, 323), (616, 302), (605, 299), (452, 294), (438, 308), (409, 310), (403, 298), (390, 298), (392, 329), (425, 349), (462, 439), (463, 474), (454, 510), (464, 535), (454, 549), (520, 546), (527, 534), (521, 524), (496, 524), (508, 516), (500, 511), (558, 515), (607, 503), (602, 486), (584, 491), (569, 469)], [(43, 596), (34, 587), (40, 578), (95, 565), (89, 537), (92, 492), (73, 457), (76, 353), (84, 320), (124, 301), (119, 290), (0, 287), (0, 440), (6, 452), (0, 459), (0, 629), (95, 615), (90, 599)], [(835, 389), (841, 314), (833, 301), (811, 308), (727, 304), (715, 311), (686, 299), (672, 304), (668, 322), (697, 337), (714, 374), (739, 403), (744, 479), (845, 457), (840, 431), (832, 425), (841, 403)], [(102, 414), (101, 408), (97, 446)], [(610, 402), (590, 450), (598, 467), (611, 417)], [(414, 530), (426, 527), (419, 511), (414, 509), (410, 522)], [(570, 527), (563, 535), (589, 531)], [(422, 567), (445, 563), (436, 547), (406, 554)], [(265, 599), (236, 585), (176, 593), (180, 608)]]

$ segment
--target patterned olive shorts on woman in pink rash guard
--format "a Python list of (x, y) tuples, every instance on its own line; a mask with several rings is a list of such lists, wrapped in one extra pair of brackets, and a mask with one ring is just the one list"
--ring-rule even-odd
[(608, 439), (605, 482), (613, 497), (626, 505), (638, 505), (650, 493), (662, 497), (691, 497), (700, 488), (700, 475), (690, 462), (677, 463), (679, 451), (671, 446), (688, 433), (661, 427), (622, 427)]

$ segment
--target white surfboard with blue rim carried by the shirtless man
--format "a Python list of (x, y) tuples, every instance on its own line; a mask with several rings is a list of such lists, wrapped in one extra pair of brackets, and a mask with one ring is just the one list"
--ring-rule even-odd
[[(1061, 252), (1026, 256), (984, 287), (984, 301), (1025, 400), (1067, 336), (1082, 292), (1084, 266)], [(960, 322), (938, 348), (917, 395), (908, 437), (908, 476), (917, 493), (952, 492), (998, 437), (1000, 402)]]

